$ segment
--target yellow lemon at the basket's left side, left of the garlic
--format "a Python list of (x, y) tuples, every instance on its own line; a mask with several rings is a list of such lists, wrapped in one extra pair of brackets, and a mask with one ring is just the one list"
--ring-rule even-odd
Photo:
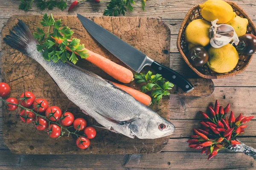
[(206, 20), (193, 20), (185, 30), (185, 41), (196, 46), (206, 46), (210, 43), (209, 28), (211, 23)]

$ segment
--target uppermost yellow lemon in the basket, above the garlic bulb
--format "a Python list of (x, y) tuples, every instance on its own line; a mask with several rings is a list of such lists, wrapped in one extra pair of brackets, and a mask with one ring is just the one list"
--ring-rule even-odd
[(217, 23), (224, 24), (236, 16), (232, 6), (223, 0), (207, 0), (199, 7), (202, 9), (203, 18), (209, 22), (218, 19)]

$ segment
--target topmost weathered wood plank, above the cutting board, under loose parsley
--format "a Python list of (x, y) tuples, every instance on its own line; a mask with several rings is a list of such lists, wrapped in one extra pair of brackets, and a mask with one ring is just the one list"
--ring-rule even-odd
[[(68, 6), (73, 1), (70, 0), (67, 2)], [(192, 6), (195, 6), (199, 3), (202, 3), (202, 0), (148, 0), (146, 2), (145, 11), (141, 9), (141, 3), (139, 0), (136, 1), (136, 4), (133, 4), (134, 11), (126, 12), (125, 16), (140, 16), (140, 17), (160, 17), (162, 19), (183, 19), (186, 13)], [(256, 19), (253, 6), (256, 5), (255, 1), (252, 0), (234, 0), (241, 8), (243, 8), (247, 14), (251, 17), (251, 19)], [(106, 3), (96, 3), (93, 1), (83, 2), (77, 8), (74, 8), (73, 11), (67, 13), (67, 9), (61, 11), (60, 9), (54, 8), (52, 11), (44, 10), (43, 12), (36, 8), (35, 3), (32, 5), (32, 9), (28, 12), (24, 12), (22, 10), (18, 10), (18, 6), (20, 4), (20, 0), (12, 0), (6, 3), (6, 1), (0, 1), (0, 17), (8, 17), (15, 14), (40, 14), (44, 12), (52, 13), (54, 15), (75, 15), (76, 13), (85, 15), (85, 16), (102, 16), (103, 12), (106, 8)]]

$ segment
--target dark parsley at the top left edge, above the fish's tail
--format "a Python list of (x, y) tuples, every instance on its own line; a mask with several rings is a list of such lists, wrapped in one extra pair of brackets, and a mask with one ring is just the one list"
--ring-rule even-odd
[(32, 8), (32, 2), (35, 1), (37, 3), (37, 7), (40, 8), (40, 10), (44, 10), (48, 8), (49, 10), (52, 10), (53, 7), (58, 7), (62, 11), (64, 8), (67, 8), (66, 0), (20, 0), (20, 6), (19, 9), (22, 9), (24, 11), (28, 11)]

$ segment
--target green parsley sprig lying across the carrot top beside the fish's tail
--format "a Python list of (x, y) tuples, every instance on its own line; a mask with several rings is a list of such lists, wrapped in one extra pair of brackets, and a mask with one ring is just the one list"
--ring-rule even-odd
[[(55, 21), (52, 14), (47, 16), (45, 13), (40, 23), (43, 27), (48, 27), (47, 32), (38, 27), (37, 32), (34, 32), (33, 35), (40, 43), (37, 45), (37, 50), (43, 52), (44, 59), (47, 61), (52, 59), (53, 62), (70, 60), (73, 64), (76, 64), (78, 58), (75, 52), (81, 58), (88, 57), (86, 50), (84, 50), (84, 44), (80, 44), (79, 39), (73, 38), (71, 41), (69, 40), (74, 32), (67, 26), (62, 26), (61, 20)], [(62, 40), (62, 42), (58, 45), (52, 37)], [(67, 52), (66, 46), (70, 48), (71, 55)]]

